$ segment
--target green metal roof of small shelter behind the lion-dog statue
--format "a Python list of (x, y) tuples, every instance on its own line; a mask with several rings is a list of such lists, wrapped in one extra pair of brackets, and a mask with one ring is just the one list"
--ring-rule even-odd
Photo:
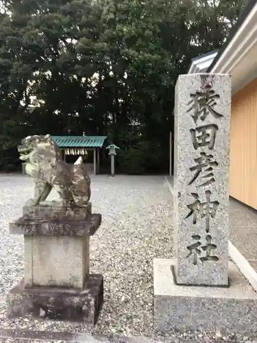
[(58, 147), (102, 147), (107, 136), (52, 136)]

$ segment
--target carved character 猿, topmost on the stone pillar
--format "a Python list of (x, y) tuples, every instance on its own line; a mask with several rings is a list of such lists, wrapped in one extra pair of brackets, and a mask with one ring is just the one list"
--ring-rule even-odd
[(186, 111), (191, 112), (193, 110), (193, 119), (195, 121), (195, 124), (197, 123), (197, 119), (201, 119), (201, 121), (204, 121), (208, 115), (208, 113), (211, 113), (215, 118), (221, 118), (223, 115), (218, 113), (214, 106), (217, 105), (216, 99), (220, 98), (219, 94), (215, 94), (215, 91), (213, 91), (210, 88), (206, 87), (206, 90), (204, 91), (197, 91), (195, 94), (190, 95), (192, 100), (188, 102), (188, 106), (192, 104), (190, 108)]

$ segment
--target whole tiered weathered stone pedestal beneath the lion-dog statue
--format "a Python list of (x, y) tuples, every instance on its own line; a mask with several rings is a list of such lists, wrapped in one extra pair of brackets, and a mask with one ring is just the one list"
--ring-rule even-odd
[(101, 215), (88, 206), (45, 202), (23, 208), (10, 233), (24, 235), (24, 279), (7, 296), (8, 317), (33, 314), (95, 324), (103, 302), (103, 277), (90, 274), (90, 235)]

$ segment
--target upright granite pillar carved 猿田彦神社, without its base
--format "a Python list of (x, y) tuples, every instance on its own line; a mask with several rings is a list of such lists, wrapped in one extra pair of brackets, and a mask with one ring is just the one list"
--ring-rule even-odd
[(228, 285), (231, 81), (180, 75), (175, 88), (175, 279)]

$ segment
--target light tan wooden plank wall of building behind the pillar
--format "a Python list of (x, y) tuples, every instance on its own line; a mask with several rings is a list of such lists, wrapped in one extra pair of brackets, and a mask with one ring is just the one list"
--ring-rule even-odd
[(257, 209), (257, 79), (232, 97), (230, 196)]

